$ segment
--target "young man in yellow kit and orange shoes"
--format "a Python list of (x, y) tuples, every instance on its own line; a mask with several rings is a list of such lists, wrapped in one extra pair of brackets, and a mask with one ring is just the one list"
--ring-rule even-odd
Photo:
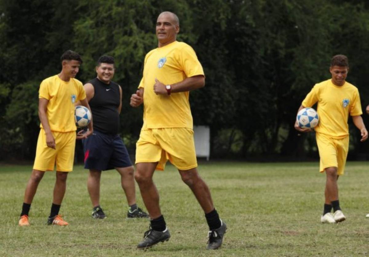
[(74, 78), (82, 59), (78, 53), (68, 50), (61, 56), (61, 62), (61, 73), (43, 80), (39, 88), (38, 115), (41, 129), (35, 163), (24, 193), (20, 226), (30, 225), (28, 213), (38, 184), (45, 171), (54, 170), (55, 164), (56, 181), (48, 224), (68, 225), (59, 215), (59, 209), (65, 194), (68, 172), (73, 169), (76, 138), (87, 138), (93, 132), (91, 121), (89, 131), (76, 137), (74, 103), (80, 101), (90, 109), (82, 83)]

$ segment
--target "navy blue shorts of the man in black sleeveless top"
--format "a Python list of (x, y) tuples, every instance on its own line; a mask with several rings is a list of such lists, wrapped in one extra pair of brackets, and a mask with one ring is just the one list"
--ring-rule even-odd
[(85, 169), (112, 170), (132, 166), (130, 156), (119, 135), (106, 135), (93, 131), (83, 140)]

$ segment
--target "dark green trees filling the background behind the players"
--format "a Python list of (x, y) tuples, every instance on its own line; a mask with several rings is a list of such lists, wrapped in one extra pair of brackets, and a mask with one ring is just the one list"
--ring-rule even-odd
[[(161, 11), (178, 15), (178, 40), (204, 67), (206, 86), (190, 93), (190, 103), (194, 124), (211, 128), (213, 157), (316, 155), (314, 139), (297, 136), (294, 119), (311, 87), (330, 77), (337, 53), (349, 57), (347, 80), (359, 88), (363, 109), (369, 103), (366, 1), (0, 0), (0, 159), (33, 158), (39, 83), (60, 72), (68, 49), (83, 57), (83, 83), (96, 76), (99, 56), (114, 56), (121, 133), (134, 149), (142, 108), (131, 108), (129, 98), (145, 54), (157, 46)], [(367, 152), (352, 124), (350, 131), (352, 156)]]

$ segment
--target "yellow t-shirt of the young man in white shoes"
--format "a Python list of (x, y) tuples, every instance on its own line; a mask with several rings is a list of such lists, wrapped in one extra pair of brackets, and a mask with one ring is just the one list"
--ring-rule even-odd
[(318, 103), (319, 124), (315, 131), (333, 138), (343, 138), (349, 134), (348, 115), (362, 114), (358, 88), (345, 82), (336, 86), (331, 79), (315, 84), (302, 102), (304, 107)]

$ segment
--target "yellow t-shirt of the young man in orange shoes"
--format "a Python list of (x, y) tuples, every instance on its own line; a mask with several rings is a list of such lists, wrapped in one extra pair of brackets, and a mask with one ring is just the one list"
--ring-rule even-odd
[[(74, 104), (86, 98), (85, 89), (79, 80), (71, 78), (63, 81), (58, 75), (43, 80), (38, 91), (38, 98), (49, 100), (47, 117), (51, 131), (76, 131)], [(40, 124), (42, 128), (42, 124)]]

